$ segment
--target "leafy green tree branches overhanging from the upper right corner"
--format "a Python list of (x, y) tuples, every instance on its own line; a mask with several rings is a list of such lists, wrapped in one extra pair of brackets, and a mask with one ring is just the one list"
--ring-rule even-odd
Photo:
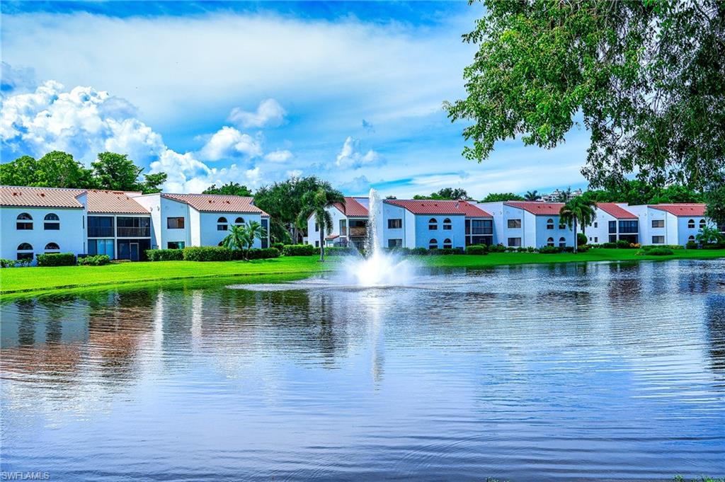
[(725, 3), (484, 0), (468, 96), (446, 103), (481, 162), (521, 136), (551, 149), (581, 116), (593, 187), (637, 173), (715, 186), (725, 166)]

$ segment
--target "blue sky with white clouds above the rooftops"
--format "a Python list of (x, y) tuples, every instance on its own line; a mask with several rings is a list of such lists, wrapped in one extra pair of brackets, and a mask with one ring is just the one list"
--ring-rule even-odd
[(589, 136), (544, 151), (461, 157), (480, 4), (3, 2), (2, 161), (51, 149), (123, 151), (167, 190), (252, 188), (318, 175), (346, 194), (399, 197), (585, 186)]

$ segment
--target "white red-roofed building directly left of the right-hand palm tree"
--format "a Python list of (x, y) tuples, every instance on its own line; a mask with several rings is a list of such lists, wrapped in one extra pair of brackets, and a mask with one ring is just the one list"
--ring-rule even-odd
[(574, 233), (560, 223), (560, 202), (496, 201), (477, 206), (493, 216), (494, 244), (510, 247), (573, 246)]

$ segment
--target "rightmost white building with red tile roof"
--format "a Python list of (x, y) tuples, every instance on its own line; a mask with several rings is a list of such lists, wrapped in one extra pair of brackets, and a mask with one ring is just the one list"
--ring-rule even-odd
[(705, 204), (648, 204), (629, 206), (641, 226), (642, 244), (681, 244), (695, 241), (702, 228), (717, 228), (705, 217)]

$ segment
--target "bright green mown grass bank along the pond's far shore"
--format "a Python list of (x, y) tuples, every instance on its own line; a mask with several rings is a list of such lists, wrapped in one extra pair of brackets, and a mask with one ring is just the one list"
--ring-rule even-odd
[[(636, 249), (590, 249), (586, 253), (491, 253), (484, 256), (453, 254), (417, 257), (421, 265), (431, 267), (489, 267), (529, 265), (558, 262), (642, 261), (647, 259), (715, 259), (725, 257), (724, 251), (676, 250), (672, 256), (637, 256)], [(4, 268), (0, 270), (0, 294), (40, 293), (59, 289), (112, 287), (130, 283), (167, 283), (191, 278), (264, 278), (299, 275), (304, 277), (334, 270), (338, 257), (320, 263), (317, 257), (281, 257), (253, 261), (162, 261), (120, 263), (106, 266), (62, 266)], [(257, 280), (255, 280), (256, 282)]]

